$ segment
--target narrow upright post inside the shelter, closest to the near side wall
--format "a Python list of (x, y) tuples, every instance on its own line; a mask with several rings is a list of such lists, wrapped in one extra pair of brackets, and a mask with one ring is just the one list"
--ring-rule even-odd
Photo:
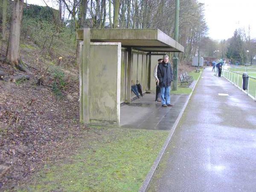
[(131, 80), (132, 80), (132, 47), (128, 48), (128, 66), (127, 66), (127, 99), (126, 103), (131, 103)]

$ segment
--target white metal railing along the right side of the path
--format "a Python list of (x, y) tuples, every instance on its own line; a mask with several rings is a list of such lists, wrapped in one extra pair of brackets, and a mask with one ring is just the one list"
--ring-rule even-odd
[(256, 102), (256, 78), (249, 76), (247, 90), (243, 90), (243, 78), (241, 73), (223, 69), (222, 76)]

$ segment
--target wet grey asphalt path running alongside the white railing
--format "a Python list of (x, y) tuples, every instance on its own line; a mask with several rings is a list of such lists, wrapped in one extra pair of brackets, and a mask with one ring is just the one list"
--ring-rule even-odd
[(211, 68), (201, 77), (148, 191), (256, 192), (256, 102)]

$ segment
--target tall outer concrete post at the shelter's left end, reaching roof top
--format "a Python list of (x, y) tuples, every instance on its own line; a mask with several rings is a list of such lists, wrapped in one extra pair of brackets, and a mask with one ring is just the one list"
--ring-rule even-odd
[(89, 124), (89, 67), (90, 67), (90, 29), (84, 29), (84, 46), (80, 62), (80, 122)]

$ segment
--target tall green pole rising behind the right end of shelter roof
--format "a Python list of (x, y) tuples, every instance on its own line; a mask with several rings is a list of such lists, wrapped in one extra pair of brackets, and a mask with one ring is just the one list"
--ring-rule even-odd
[[(175, 41), (179, 41), (179, 15), (180, 15), (180, 0), (175, 1), (175, 33), (174, 38)], [(173, 90), (177, 90), (177, 83), (178, 83), (178, 53), (174, 53), (173, 57)]]

